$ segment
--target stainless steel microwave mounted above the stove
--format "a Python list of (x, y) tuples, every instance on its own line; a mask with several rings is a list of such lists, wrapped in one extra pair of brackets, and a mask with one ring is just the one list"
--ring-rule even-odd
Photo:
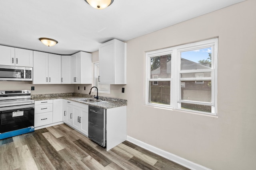
[(0, 80), (2, 81), (32, 81), (32, 67), (0, 65)]

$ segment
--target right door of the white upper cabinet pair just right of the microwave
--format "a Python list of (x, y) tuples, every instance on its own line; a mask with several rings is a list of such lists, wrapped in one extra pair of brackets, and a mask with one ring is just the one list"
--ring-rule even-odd
[(48, 54), (48, 84), (61, 82), (61, 56)]

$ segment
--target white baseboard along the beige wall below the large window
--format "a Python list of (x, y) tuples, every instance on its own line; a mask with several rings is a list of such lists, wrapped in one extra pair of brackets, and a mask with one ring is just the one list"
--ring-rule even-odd
[(186, 160), (180, 156), (177, 156), (175, 154), (172, 154), (170, 152), (166, 152), (165, 150), (156, 148), (152, 145), (148, 145), (142, 141), (139, 141), (137, 139), (134, 139), (133, 137), (127, 136), (127, 141), (134, 143), (135, 145), (138, 145), (139, 147), (142, 147), (146, 150), (149, 150), (150, 152), (153, 152), (155, 154), (158, 154), (168, 160), (171, 160), (173, 162), (176, 162), (177, 164), (180, 164), (182, 166), (185, 166), (186, 168), (189, 168), (191, 170), (210, 170), (209, 168), (206, 168), (202, 165), (196, 164), (194, 162), (191, 162), (189, 160)]

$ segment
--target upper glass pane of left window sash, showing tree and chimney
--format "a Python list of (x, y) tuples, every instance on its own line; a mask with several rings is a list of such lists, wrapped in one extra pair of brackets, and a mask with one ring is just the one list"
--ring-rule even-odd
[(170, 78), (171, 54), (150, 57), (150, 71), (151, 78)]

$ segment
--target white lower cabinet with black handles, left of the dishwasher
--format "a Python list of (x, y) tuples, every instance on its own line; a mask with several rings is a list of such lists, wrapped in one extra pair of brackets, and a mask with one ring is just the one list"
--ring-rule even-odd
[(67, 114), (63, 119), (66, 119), (66, 124), (88, 136), (88, 105), (68, 100), (65, 103)]

